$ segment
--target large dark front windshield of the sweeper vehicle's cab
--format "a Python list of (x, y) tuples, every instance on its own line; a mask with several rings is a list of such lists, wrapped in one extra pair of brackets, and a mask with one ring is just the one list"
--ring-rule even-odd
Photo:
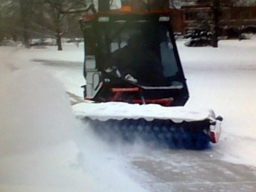
[(116, 21), (99, 33), (107, 73), (140, 85), (172, 84), (179, 69), (167, 25)]

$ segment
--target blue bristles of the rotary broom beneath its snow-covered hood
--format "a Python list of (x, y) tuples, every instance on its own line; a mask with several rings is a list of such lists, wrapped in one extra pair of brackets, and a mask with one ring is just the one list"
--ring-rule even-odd
[(133, 143), (137, 139), (154, 146), (171, 149), (203, 150), (210, 148), (210, 121), (174, 123), (171, 120), (154, 119), (98, 119), (84, 118), (103, 139), (122, 140)]

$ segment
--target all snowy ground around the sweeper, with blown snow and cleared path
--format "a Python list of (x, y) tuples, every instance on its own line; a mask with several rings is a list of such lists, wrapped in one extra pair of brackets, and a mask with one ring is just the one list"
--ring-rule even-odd
[(63, 52), (0, 47), (0, 191), (254, 191), (256, 40), (220, 41), (218, 49), (183, 43), (178, 41), (190, 90), (186, 105), (224, 116), (221, 140), (210, 151), (137, 143), (113, 152), (89, 131), (80, 132), (62, 94), (63, 85), (70, 98), (82, 101), (82, 45), (66, 44)]

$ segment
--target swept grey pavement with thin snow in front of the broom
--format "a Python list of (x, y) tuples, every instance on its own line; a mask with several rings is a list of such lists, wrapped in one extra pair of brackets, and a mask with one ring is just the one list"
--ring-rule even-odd
[(221, 160), (217, 151), (155, 151), (134, 157), (134, 166), (151, 176), (153, 191), (254, 191), (255, 169)]

